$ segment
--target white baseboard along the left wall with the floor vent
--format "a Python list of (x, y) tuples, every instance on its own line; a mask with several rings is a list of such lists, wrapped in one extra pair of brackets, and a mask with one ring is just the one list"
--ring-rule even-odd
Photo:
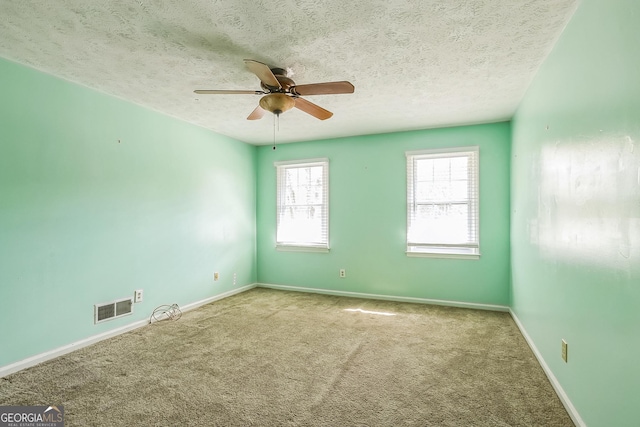
[[(192, 302), (190, 304), (185, 305), (184, 307), (180, 307), (182, 312), (189, 311), (201, 307), (205, 304), (209, 304), (210, 302), (217, 301), (223, 298), (230, 297), (231, 295), (238, 294), (240, 292), (248, 291), (249, 289), (253, 289), (256, 287), (256, 284), (250, 284), (247, 286), (243, 286), (241, 288), (232, 289), (230, 291), (224, 292), (222, 294), (214, 295), (212, 297)], [(62, 347), (55, 348), (53, 350), (46, 351), (44, 353), (36, 354), (35, 356), (28, 357), (23, 360), (19, 360), (15, 363), (6, 366), (0, 366), (0, 378), (5, 377), (9, 374), (13, 374), (14, 372), (21, 371), (26, 368), (30, 368), (39, 363), (46, 362), (47, 360), (55, 359), (56, 357), (62, 356), (67, 353), (71, 353), (72, 351), (79, 350), (83, 347), (87, 347), (91, 344), (95, 344), (99, 341), (106, 340), (108, 338), (115, 337), (116, 335), (124, 334), (125, 332), (132, 331), (134, 329), (140, 328), (142, 326), (148, 325), (149, 320), (138, 320), (133, 323), (130, 323), (125, 326), (121, 326), (116, 329), (112, 329), (110, 331), (103, 332), (98, 335), (93, 335), (88, 338), (84, 338), (80, 341), (73, 342), (71, 344), (64, 345)]]

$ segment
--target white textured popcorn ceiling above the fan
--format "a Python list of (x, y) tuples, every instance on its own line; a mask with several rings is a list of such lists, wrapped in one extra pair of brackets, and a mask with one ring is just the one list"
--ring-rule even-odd
[[(243, 63), (297, 84), (349, 80), (306, 99), (278, 143), (509, 119), (578, 0), (1, 0), (0, 56), (252, 144), (260, 90)], [(43, 94), (46, 96), (46, 94)]]

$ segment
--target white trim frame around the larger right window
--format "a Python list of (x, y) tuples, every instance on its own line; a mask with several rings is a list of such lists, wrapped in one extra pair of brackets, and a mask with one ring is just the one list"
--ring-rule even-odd
[[(476, 244), (438, 244), (438, 245), (429, 245), (429, 244), (410, 244), (409, 243), (409, 225), (411, 224), (411, 209), (409, 207), (410, 201), (413, 200), (414, 194), (412, 192), (415, 191), (415, 185), (410, 182), (412, 176), (415, 176), (415, 170), (413, 170), (413, 165), (411, 162), (415, 159), (415, 157), (429, 157), (429, 158), (438, 158), (438, 157), (452, 157), (455, 153), (474, 153), (476, 157), (476, 168), (474, 171), (473, 180), (477, 185), (476, 191), (478, 193), (478, 197), (475, 200), (475, 222), (476, 222)], [(405, 156), (407, 159), (407, 242), (406, 242), (406, 255), (409, 257), (419, 257), (419, 258), (452, 258), (452, 259), (480, 259), (480, 148), (479, 146), (465, 146), (465, 147), (453, 147), (453, 148), (439, 148), (439, 149), (428, 149), (428, 150), (417, 150), (417, 151), (407, 151), (405, 152)], [(412, 175), (409, 174), (409, 168), (412, 169)], [(473, 201), (473, 200), (472, 200)], [(423, 249), (418, 249), (420, 246)], [(451, 248), (448, 250), (448, 248)], [(464, 250), (476, 249), (477, 251), (474, 253), (464, 253)], [(431, 249), (431, 250), (430, 250)]]

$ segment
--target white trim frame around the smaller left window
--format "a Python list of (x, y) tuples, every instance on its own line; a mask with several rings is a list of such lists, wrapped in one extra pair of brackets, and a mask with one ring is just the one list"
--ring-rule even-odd
[[(323, 215), (326, 218), (326, 228), (327, 228), (327, 242), (326, 244), (317, 244), (317, 243), (297, 243), (297, 242), (278, 242), (278, 222), (280, 221), (280, 200), (279, 197), (281, 195), (280, 192), (280, 178), (278, 173), (278, 168), (280, 166), (295, 166), (295, 167), (307, 167), (307, 166), (318, 166), (322, 164), (326, 168), (326, 172), (324, 174), (325, 181), (323, 182)], [(287, 161), (279, 161), (274, 162), (273, 165), (276, 167), (276, 250), (283, 252), (329, 252), (329, 159), (326, 157), (321, 158), (313, 158), (313, 159), (302, 159), (302, 160), (287, 160)]]

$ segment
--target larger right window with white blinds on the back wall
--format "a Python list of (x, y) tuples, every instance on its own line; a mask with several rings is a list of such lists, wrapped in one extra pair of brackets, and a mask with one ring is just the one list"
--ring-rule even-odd
[(478, 147), (406, 155), (407, 254), (478, 258)]

